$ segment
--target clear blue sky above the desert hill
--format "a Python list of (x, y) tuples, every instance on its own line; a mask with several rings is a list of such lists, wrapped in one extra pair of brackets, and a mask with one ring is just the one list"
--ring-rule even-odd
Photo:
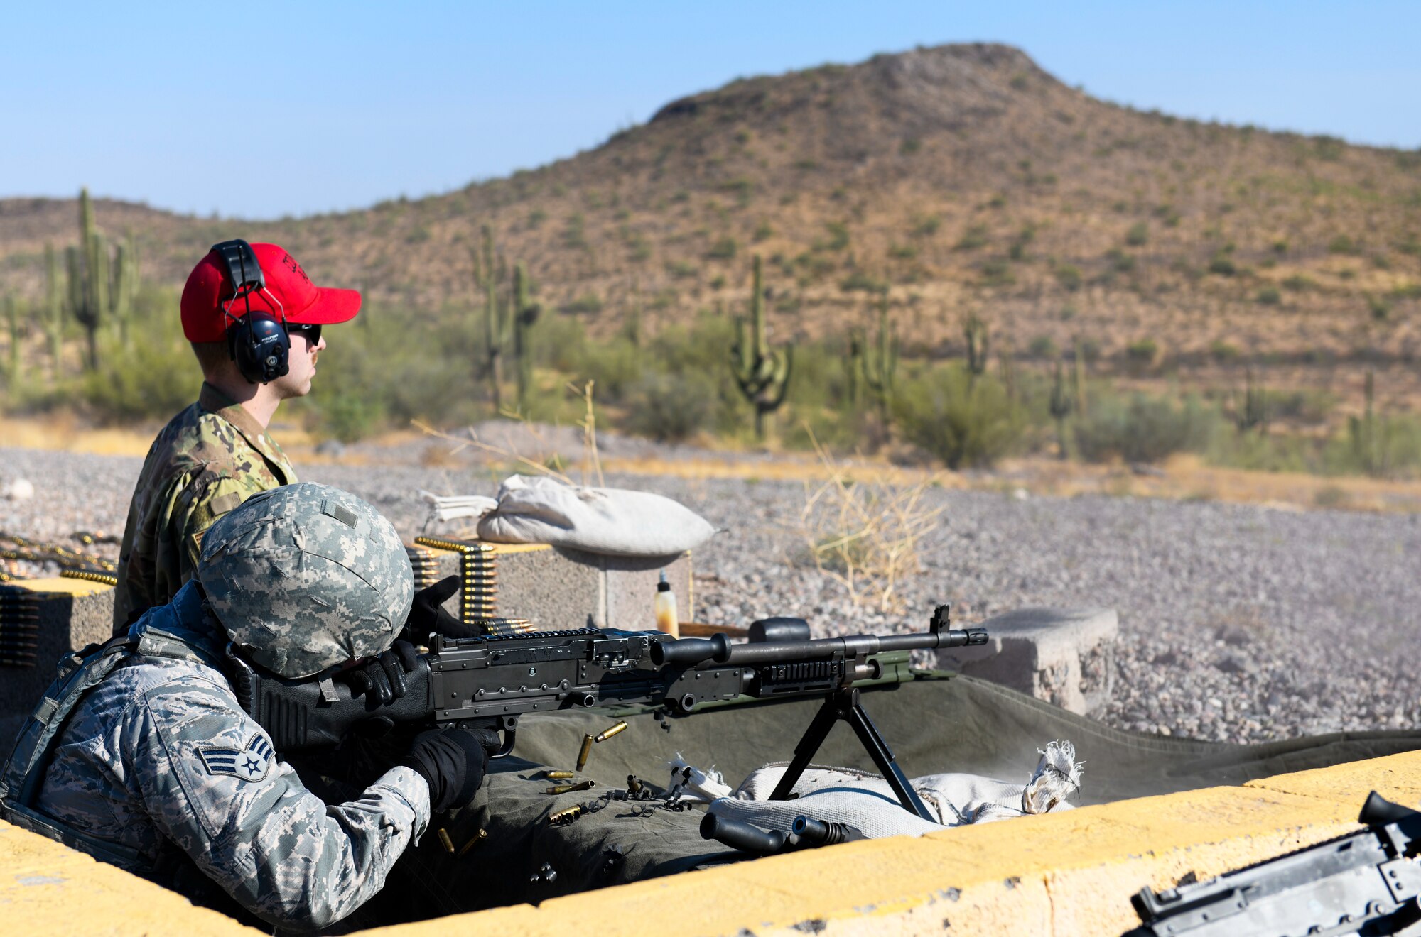
[(1421, 3), (71, 3), (3, 26), (0, 197), (199, 214), (456, 189), (737, 75), (979, 40), (1140, 108), (1421, 145)]

